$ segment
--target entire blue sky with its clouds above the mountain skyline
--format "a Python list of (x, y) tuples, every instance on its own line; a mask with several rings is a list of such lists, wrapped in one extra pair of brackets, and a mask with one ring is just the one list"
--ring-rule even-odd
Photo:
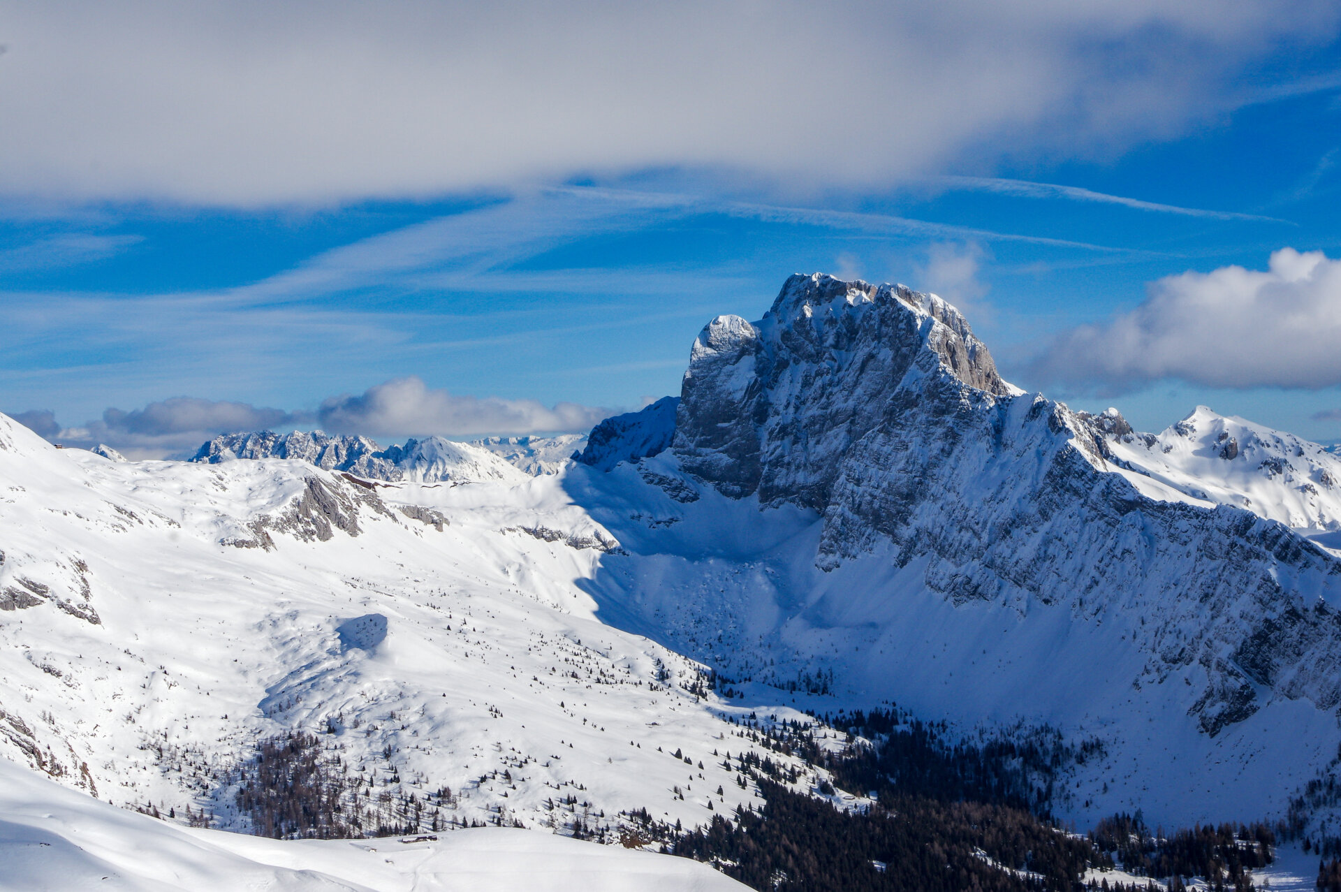
[(137, 455), (579, 429), (826, 271), (1137, 428), (1341, 439), (1336, 4), (947, 5), (0, 4), (0, 409)]

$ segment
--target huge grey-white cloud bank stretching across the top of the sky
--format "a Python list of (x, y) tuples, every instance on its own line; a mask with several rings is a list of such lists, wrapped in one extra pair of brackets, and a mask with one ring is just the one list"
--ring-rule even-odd
[(1330, 40), (1338, 11), (139, 0), (4, 13), (0, 193), (263, 205), (676, 165), (870, 185), (963, 153), (1110, 152), (1250, 101), (1254, 66)]

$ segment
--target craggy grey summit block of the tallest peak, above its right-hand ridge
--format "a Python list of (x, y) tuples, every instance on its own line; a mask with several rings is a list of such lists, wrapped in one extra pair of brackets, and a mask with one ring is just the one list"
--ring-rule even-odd
[(944, 402), (1010, 393), (987, 349), (940, 298), (791, 276), (760, 322), (717, 317), (695, 341), (675, 452), (727, 495), (822, 510), (841, 456), (898, 423), (901, 382), (943, 365), (953, 372)]

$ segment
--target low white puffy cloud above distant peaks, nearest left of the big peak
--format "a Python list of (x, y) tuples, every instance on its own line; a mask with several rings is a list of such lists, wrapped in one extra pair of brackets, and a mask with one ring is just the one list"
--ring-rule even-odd
[(397, 378), (359, 396), (331, 397), (316, 412), (320, 427), (370, 436), (520, 435), (585, 432), (607, 417), (607, 409), (575, 402), (552, 408), (535, 400), (457, 396), (429, 389), (417, 377)]

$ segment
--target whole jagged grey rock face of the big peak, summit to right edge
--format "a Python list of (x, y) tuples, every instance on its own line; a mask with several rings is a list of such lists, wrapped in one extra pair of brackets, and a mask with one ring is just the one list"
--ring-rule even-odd
[(1199, 667), (1207, 734), (1263, 687), (1334, 710), (1341, 562), (1248, 511), (1152, 498), (1112, 448), (1134, 436), (1021, 394), (936, 298), (794, 276), (763, 321), (704, 329), (675, 453), (725, 495), (818, 511), (821, 569), (888, 554), (956, 605), (1143, 617), (1137, 683)]

